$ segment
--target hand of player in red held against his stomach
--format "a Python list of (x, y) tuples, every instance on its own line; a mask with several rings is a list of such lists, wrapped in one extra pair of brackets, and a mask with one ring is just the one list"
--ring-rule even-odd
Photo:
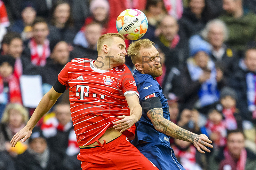
[(134, 125), (134, 123), (137, 122), (136, 118), (134, 115), (130, 115), (130, 116), (118, 116), (116, 117), (117, 119), (122, 119), (122, 120), (118, 120), (116, 122), (114, 122), (114, 126), (113, 128), (115, 128), (115, 130), (121, 130), (120, 133), (124, 132), (125, 130), (129, 129), (132, 127), (132, 125)]

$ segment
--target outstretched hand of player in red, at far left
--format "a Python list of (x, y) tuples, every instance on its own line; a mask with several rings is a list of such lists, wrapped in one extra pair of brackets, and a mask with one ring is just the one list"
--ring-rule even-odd
[(21, 142), (25, 142), (30, 135), (32, 134), (32, 129), (28, 128), (27, 126), (25, 126), (24, 128), (22, 128), (19, 132), (17, 132), (11, 140), (12, 143), (12, 147), (15, 147), (16, 143), (21, 140)]

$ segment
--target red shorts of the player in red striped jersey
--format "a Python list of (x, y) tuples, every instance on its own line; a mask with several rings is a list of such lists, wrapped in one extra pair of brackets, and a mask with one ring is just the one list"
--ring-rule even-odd
[(82, 170), (158, 170), (125, 135), (100, 147), (80, 149), (77, 159)]

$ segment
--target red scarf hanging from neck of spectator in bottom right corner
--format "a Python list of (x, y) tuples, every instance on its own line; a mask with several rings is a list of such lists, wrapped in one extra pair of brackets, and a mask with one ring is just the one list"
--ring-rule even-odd
[[(229, 154), (228, 148), (224, 149), (224, 156), (225, 156), (225, 159), (234, 160)], [(245, 149), (243, 149), (236, 163), (236, 170), (245, 170), (246, 159), (247, 159), (247, 152)]]

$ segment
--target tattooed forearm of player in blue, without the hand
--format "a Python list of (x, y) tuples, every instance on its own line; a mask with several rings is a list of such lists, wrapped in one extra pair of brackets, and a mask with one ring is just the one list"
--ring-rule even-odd
[(178, 125), (172, 123), (170, 120), (165, 119), (163, 116), (163, 109), (151, 109), (150, 111), (148, 111), (147, 116), (153, 123), (156, 130), (158, 130), (159, 132), (183, 141), (198, 142), (198, 135), (189, 132), (186, 129), (180, 128)]

